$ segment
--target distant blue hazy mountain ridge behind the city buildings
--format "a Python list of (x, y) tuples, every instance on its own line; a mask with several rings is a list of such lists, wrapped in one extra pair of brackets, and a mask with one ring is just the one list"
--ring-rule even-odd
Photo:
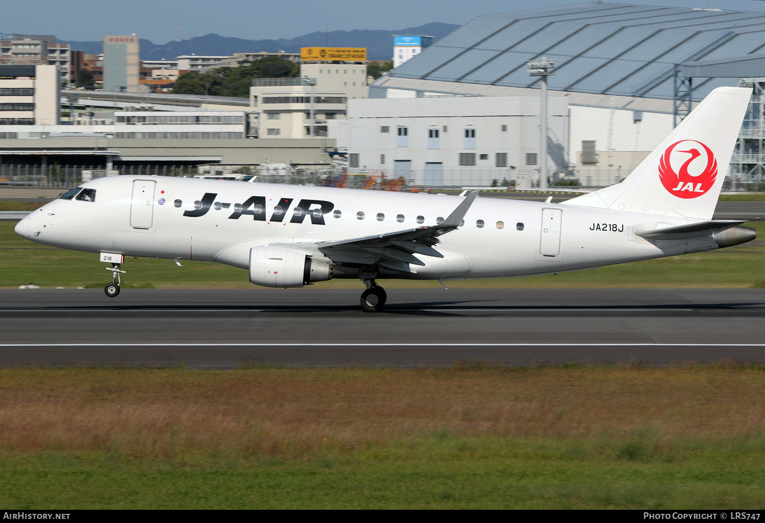
[[(193, 37), (179, 42), (170, 41), (167, 44), (155, 44), (141, 39), (142, 60), (174, 60), (181, 54), (210, 54), (230, 56), (233, 53), (257, 53), (267, 51), (275, 53), (285, 50), (288, 53), (297, 53), (301, 47), (323, 46), (330, 47), (366, 47), (369, 60), (391, 60), (393, 56), (392, 34), (427, 34), (435, 37), (435, 41), (441, 40), (460, 26), (457, 24), (441, 24), (433, 22), (416, 28), (397, 29), (387, 31), (384, 29), (372, 31), (369, 29), (356, 29), (354, 31), (330, 31), (328, 34), (317, 31), (304, 34), (303, 36), (289, 40), (245, 40), (243, 38), (222, 37), (220, 34), (206, 34), (203, 37)], [(74, 50), (83, 50), (86, 54), (99, 54), (101, 42), (78, 42), (59, 40), (63, 44), (70, 44)]]

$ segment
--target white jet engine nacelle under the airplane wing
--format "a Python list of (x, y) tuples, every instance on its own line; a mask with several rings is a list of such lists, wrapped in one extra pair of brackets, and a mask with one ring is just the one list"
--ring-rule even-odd
[(328, 261), (275, 245), (249, 249), (249, 281), (263, 287), (302, 287), (332, 279)]

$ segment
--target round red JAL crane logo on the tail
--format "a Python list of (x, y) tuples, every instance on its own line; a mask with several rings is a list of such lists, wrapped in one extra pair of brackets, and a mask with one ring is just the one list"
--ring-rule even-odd
[[(673, 165), (679, 168), (675, 170)], [(675, 141), (659, 160), (662, 185), (679, 198), (698, 198), (705, 194), (715, 185), (717, 171), (715, 154), (696, 140)]]

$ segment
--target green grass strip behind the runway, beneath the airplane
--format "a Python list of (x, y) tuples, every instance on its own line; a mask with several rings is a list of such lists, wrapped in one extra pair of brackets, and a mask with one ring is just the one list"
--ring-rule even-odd
[[(32, 282), (41, 287), (103, 287), (111, 275), (98, 255), (46, 248), (13, 232), (15, 222), (0, 222), (0, 288)], [(765, 224), (747, 223), (765, 238)], [(127, 258), (123, 288), (254, 288), (246, 271), (216, 263)], [(526, 278), (450, 281), (449, 287), (604, 288), (727, 287), (746, 288), (765, 282), (765, 240), (714, 252), (635, 261), (588, 271)], [(386, 280), (386, 288), (435, 288), (437, 281)], [(363, 288), (357, 280), (324, 281), (311, 288)]]

